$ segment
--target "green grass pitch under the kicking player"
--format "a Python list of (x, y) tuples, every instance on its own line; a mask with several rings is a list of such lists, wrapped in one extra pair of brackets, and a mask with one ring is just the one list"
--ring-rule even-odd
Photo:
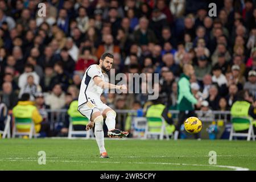
[[(256, 142), (245, 140), (110, 139), (105, 147), (110, 159), (99, 158), (93, 139), (0, 139), (0, 170), (256, 170)], [(38, 164), (39, 151), (46, 165)], [(217, 152), (217, 166), (209, 165), (209, 151)]]

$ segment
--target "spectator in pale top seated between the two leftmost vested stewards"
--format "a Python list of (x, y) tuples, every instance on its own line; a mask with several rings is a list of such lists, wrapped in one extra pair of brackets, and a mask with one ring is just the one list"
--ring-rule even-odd
[(65, 94), (60, 84), (56, 84), (52, 88), (52, 92), (46, 96), (46, 104), (51, 109), (61, 109), (65, 105)]

